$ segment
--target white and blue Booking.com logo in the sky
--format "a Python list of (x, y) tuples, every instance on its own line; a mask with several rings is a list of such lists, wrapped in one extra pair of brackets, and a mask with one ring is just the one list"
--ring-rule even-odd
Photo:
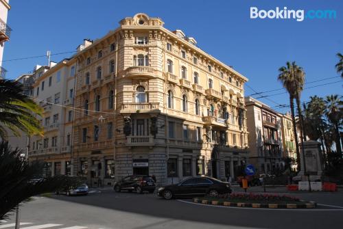
[(270, 19), (296, 19), (304, 21), (305, 19), (334, 19), (336, 18), (335, 10), (288, 10), (287, 7), (275, 10), (259, 10), (257, 7), (250, 7), (250, 18), (270, 18)]

